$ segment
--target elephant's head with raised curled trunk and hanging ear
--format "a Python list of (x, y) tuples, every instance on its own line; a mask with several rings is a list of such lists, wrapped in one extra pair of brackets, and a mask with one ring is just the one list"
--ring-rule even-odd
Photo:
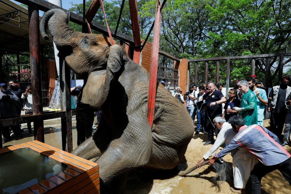
[[(47, 40), (46, 30), (49, 29), (59, 50), (59, 57), (65, 59), (66, 64), (76, 74), (85, 79), (88, 77), (82, 91), (81, 102), (100, 107), (106, 100), (114, 73), (122, 66), (125, 52), (119, 45), (111, 48), (109, 38), (106, 36), (70, 29), (68, 21), (68, 15), (63, 10), (49, 10), (40, 22), (41, 36)], [(119, 56), (116, 56), (116, 49), (119, 50)]]

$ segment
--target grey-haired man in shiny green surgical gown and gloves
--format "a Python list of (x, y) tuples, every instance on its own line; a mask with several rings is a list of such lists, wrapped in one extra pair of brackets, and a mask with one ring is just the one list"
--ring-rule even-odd
[(240, 101), (240, 106), (234, 107), (233, 110), (239, 112), (239, 115), (243, 117), (246, 125), (258, 124), (256, 95), (249, 89), (249, 83), (246, 80), (240, 81), (238, 85), (239, 90), (244, 94)]

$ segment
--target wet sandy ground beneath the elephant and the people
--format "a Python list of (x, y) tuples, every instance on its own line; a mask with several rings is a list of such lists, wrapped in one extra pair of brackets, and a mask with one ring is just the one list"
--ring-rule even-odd
[[(95, 120), (96, 121), (96, 120)], [(264, 121), (264, 126), (269, 126), (269, 120)], [(33, 124), (32, 124), (33, 127)], [(45, 128), (45, 143), (52, 145), (56, 148), (62, 149), (61, 139), (61, 120), (52, 119), (44, 121)], [(27, 141), (33, 141), (33, 136), (28, 136), (27, 125), (22, 124), (24, 138), (20, 140), (13, 140), (4, 143), (3, 146), (16, 145)], [(72, 134), (73, 134), (73, 148), (77, 147), (77, 131), (76, 121), (72, 118)], [(12, 135), (13, 137), (13, 135)], [(207, 135), (199, 134), (195, 135), (189, 143), (185, 157), (188, 167), (194, 166), (202, 156), (211, 148), (212, 145), (203, 145), (207, 139)], [(289, 153), (291, 148), (286, 145)], [(222, 149), (222, 148), (220, 148)], [(226, 162), (231, 165), (231, 155), (224, 157)], [(215, 175), (212, 167), (202, 166), (195, 171), (188, 174), (186, 177), (179, 177), (176, 175), (175, 170), (145, 170), (135, 169), (130, 173), (129, 179), (125, 184), (125, 188), (122, 193), (125, 194), (214, 194), (217, 193), (215, 188), (211, 188), (210, 179)], [(232, 193), (229, 188), (233, 187), (233, 182), (223, 182), (221, 185), (220, 193)], [(285, 194), (291, 193), (291, 186), (283, 178), (281, 173), (276, 170), (267, 174), (262, 179), (262, 193), (265, 194)]]

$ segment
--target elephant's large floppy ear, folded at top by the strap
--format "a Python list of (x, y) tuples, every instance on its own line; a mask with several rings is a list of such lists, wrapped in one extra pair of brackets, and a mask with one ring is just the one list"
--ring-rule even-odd
[(93, 71), (89, 74), (82, 92), (82, 103), (101, 107), (107, 98), (114, 73), (118, 72), (124, 64), (122, 56), (121, 46), (113, 45), (110, 47), (106, 70)]

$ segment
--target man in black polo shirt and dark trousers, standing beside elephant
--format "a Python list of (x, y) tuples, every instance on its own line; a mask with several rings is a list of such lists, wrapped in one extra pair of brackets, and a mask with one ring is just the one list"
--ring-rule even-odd
[(216, 90), (216, 86), (214, 82), (208, 82), (209, 92), (203, 95), (203, 99), (207, 103), (207, 109), (205, 113), (205, 121), (206, 121), (206, 131), (208, 133), (208, 140), (203, 145), (209, 145), (214, 143), (213, 133), (215, 130), (215, 126), (212, 123), (215, 117), (221, 116), (222, 112), (222, 103), (226, 102), (225, 97), (222, 92)]

